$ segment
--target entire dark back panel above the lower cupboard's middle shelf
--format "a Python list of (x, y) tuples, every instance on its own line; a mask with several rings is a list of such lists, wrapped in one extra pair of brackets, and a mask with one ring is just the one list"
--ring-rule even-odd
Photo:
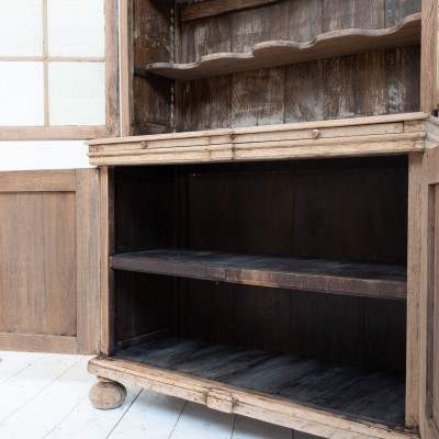
[(406, 262), (406, 157), (195, 167), (187, 178), (189, 248)]

